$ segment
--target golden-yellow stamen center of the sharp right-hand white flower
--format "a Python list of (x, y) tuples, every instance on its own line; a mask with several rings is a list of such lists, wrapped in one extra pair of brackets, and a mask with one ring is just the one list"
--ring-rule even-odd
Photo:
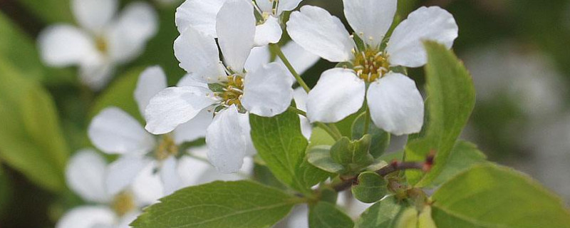
[(368, 49), (355, 53), (354, 57), (354, 71), (367, 83), (382, 78), (390, 69), (388, 58), (382, 52)]

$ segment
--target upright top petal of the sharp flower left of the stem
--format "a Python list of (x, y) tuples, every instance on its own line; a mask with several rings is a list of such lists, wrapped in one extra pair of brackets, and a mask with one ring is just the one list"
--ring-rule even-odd
[(241, 73), (254, 46), (255, 16), (252, 4), (245, 0), (227, 0), (219, 9), (216, 31), (224, 62), (232, 71)]

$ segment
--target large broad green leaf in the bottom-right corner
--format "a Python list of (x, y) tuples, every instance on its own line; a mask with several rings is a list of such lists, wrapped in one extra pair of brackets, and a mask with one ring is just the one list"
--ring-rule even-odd
[(432, 196), (438, 228), (570, 227), (561, 199), (520, 172), (497, 165), (473, 167)]

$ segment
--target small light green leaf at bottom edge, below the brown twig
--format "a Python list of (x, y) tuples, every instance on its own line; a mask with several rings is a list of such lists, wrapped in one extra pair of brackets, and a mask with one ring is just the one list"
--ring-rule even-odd
[(393, 196), (385, 197), (361, 214), (355, 228), (395, 228), (398, 218), (410, 207), (406, 201), (400, 202)]

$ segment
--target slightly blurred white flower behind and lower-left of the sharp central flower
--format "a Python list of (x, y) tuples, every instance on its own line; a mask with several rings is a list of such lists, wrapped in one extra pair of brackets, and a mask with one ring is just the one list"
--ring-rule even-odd
[[(180, 85), (185, 85), (181, 81)], [(162, 68), (154, 66), (141, 73), (134, 97), (140, 110), (144, 110), (153, 95), (165, 89), (166, 76)], [(108, 185), (108, 192), (115, 193), (124, 186), (131, 185), (133, 177), (141, 170), (157, 170), (162, 183), (158, 190), (164, 195), (178, 190), (184, 182), (179, 170), (184, 170), (177, 159), (179, 145), (204, 138), (205, 128), (212, 121), (212, 114), (204, 111), (197, 117), (182, 124), (172, 134), (155, 138), (142, 128), (135, 118), (119, 108), (105, 108), (93, 118), (88, 135), (95, 147), (108, 154), (119, 154), (121, 157), (110, 167), (110, 181), (120, 185)], [(185, 157), (182, 155), (182, 157)], [(195, 170), (199, 171), (199, 170)], [(144, 171), (143, 171), (144, 172)]]

